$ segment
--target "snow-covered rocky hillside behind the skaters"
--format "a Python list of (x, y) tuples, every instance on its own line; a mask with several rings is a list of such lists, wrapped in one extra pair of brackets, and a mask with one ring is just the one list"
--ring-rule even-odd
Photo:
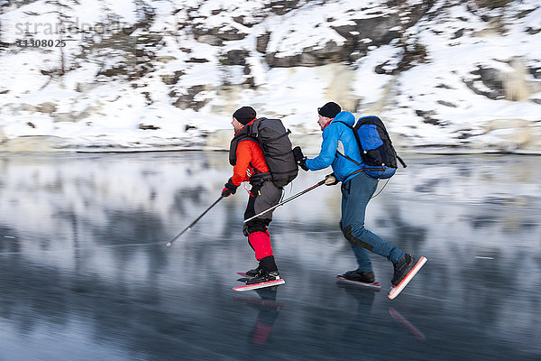
[[(316, 107), (399, 148), (541, 152), (538, 0), (0, 0), (0, 151), (227, 149)], [(39, 42), (37, 42), (39, 41)]]

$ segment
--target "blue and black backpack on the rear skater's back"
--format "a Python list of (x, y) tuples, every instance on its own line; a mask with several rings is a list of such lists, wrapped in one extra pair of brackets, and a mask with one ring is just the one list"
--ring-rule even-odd
[[(339, 122), (346, 125), (344, 122)], [(363, 116), (353, 126), (347, 125), (353, 130), (353, 135), (361, 150), (362, 162), (365, 167), (363, 171), (372, 178), (387, 179), (397, 171), (397, 160), (404, 168), (406, 163), (397, 155), (389, 133), (381, 119), (377, 116)], [(346, 159), (355, 162), (352, 158), (340, 153)]]

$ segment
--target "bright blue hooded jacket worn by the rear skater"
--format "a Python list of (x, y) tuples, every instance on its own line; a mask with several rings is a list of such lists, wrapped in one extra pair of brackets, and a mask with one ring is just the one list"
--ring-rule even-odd
[[(322, 170), (332, 165), (336, 178), (340, 181), (345, 181), (361, 174), (361, 172), (357, 172), (352, 175), (353, 171), (362, 169), (364, 164), (362, 163), (359, 145), (357, 145), (352, 129), (339, 122), (353, 126), (355, 124), (355, 116), (346, 111), (338, 113), (331, 124), (327, 125), (323, 130), (323, 143), (321, 143), (319, 155), (314, 159), (307, 159), (306, 164), (310, 171)], [(360, 163), (361, 166), (344, 158), (336, 151), (347, 155), (355, 162)]]

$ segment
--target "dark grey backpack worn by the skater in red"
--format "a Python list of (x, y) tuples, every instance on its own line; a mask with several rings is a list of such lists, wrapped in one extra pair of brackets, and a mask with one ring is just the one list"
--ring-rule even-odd
[(257, 139), (260, 144), (265, 162), (271, 171), (272, 182), (277, 187), (284, 187), (298, 174), (289, 134), (291, 132), (282, 124), (280, 119), (257, 118), (248, 135)]

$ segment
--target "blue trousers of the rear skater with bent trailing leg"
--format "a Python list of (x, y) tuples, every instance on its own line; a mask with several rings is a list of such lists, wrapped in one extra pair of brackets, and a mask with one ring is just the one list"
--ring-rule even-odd
[[(342, 219), (340, 225), (345, 238), (352, 244), (359, 270), (372, 270), (368, 251), (386, 257), (393, 264), (404, 255), (397, 246), (381, 239), (364, 227), (366, 206), (378, 187), (378, 180), (364, 174), (342, 184)], [(367, 251), (368, 250), (368, 251)]]

